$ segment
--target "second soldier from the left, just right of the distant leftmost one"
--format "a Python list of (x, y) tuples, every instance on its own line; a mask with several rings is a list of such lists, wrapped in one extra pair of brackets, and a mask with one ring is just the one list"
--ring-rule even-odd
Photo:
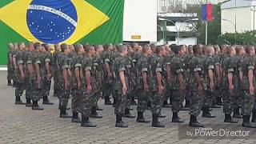
[(26, 75), (24, 73), (25, 67), (24, 67), (24, 61), (23, 61), (23, 54), (24, 54), (24, 43), (18, 44), (18, 50), (14, 51), (13, 54), (13, 62), (14, 62), (14, 77), (15, 77), (15, 104), (16, 105), (23, 105), (25, 103), (22, 102), (21, 96), (23, 94), (23, 91), (26, 89), (25, 81), (26, 81)]

